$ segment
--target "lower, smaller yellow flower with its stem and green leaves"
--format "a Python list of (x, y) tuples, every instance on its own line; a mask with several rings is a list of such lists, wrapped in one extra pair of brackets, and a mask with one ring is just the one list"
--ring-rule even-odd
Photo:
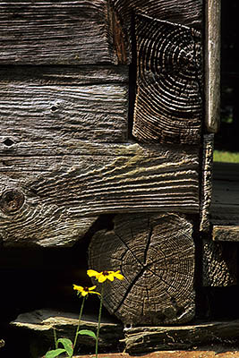
[[(84, 307), (86, 298), (88, 297), (89, 294), (100, 295), (98, 292), (94, 291), (95, 288), (96, 288), (96, 286), (83, 287), (83, 286), (73, 285), (73, 289), (77, 291), (77, 294), (80, 297), (82, 297), (81, 310), (80, 310), (80, 314), (79, 314), (78, 326), (77, 326), (76, 332), (75, 332), (74, 342), (72, 342), (71, 339), (68, 339), (68, 338), (56, 339), (56, 336), (55, 336), (55, 349), (48, 351), (46, 354), (46, 358), (55, 358), (55, 357), (58, 357), (59, 354), (67, 354), (69, 358), (72, 358), (73, 351), (74, 351), (76, 341), (77, 341), (77, 337), (79, 335), (90, 336), (90, 337), (93, 337), (95, 340), (97, 340), (97, 336), (95, 335), (95, 333), (93, 331), (91, 331), (89, 329), (79, 330), (80, 324), (81, 324), (82, 311), (83, 311), (83, 307)], [(55, 334), (55, 332), (54, 332), (54, 334)], [(58, 348), (59, 344), (62, 344), (64, 346), (64, 348)]]

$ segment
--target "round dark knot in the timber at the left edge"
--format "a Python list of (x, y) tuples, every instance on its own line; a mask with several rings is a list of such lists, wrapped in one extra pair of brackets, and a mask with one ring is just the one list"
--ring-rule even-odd
[(8, 190), (3, 192), (0, 198), (0, 209), (6, 215), (15, 214), (21, 209), (24, 203), (24, 195), (17, 190)]

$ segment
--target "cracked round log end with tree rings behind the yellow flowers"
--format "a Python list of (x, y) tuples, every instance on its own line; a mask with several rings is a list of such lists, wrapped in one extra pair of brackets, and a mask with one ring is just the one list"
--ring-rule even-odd
[(125, 325), (185, 323), (194, 316), (194, 243), (184, 216), (116, 216), (114, 230), (93, 236), (89, 267), (124, 275), (103, 285), (104, 305)]

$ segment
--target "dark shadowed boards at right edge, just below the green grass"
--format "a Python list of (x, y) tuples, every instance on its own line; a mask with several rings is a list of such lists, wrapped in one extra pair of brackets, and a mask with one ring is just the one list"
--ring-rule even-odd
[(213, 164), (210, 222), (216, 226), (239, 225), (239, 164)]

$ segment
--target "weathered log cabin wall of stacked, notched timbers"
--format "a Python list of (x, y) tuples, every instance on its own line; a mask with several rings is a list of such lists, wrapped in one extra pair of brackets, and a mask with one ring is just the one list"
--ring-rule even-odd
[[(1, 3), (4, 327), (72, 299), (88, 267), (123, 273), (105, 306), (124, 326), (192, 322), (201, 283), (235, 283), (210, 240), (203, 14), (201, 0)], [(32, 302), (32, 285), (13, 308), (13, 268), (51, 298)]]

